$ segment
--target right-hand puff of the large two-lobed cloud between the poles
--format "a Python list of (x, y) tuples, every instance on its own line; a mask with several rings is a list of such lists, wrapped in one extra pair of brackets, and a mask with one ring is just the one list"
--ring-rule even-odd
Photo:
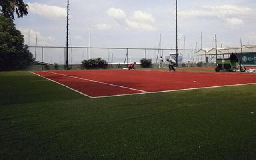
[(152, 14), (142, 12), (140, 10), (137, 10), (133, 13), (132, 19), (141, 22), (141, 23), (152, 23), (154, 22), (154, 18), (152, 17)]

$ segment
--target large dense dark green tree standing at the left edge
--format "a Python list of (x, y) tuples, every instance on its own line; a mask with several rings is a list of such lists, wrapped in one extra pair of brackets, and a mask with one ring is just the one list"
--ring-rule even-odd
[(0, 71), (22, 70), (34, 62), (13, 20), (0, 14)]

